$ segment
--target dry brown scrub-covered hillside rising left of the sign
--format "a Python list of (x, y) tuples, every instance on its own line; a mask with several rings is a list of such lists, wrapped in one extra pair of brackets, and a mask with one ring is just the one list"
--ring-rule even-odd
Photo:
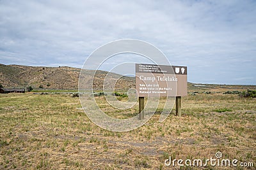
[[(28, 86), (34, 89), (76, 90), (81, 69), (74, 67), (34, 67), (0, 64), (0, 84), (6, 88)], [(93, 82), (96, 90), (103, 87), (107, 71), (97, 71)], [(113, 80), (118, 80), (119, 74), (110, 73)], [(93, 71), (86, 70), (86, 79), (93, 78)], [(116, 83), (116, 89), (135, 87), (135, 78), (123, 76)]]

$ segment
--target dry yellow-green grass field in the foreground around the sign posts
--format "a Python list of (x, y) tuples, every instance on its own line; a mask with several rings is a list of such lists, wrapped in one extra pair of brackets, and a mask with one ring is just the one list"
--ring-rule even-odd
[[(104, 97), (96, 98), (104, 104)], [(125, 113), (102, 108), (120, 117), (138, 112), (137, 107)], [(175, 110), (162, 123), (159, 117), (133, 131), (111, 132), (90, 122), (77, 97), (1, 94), (0, 169), (256, 168), (255, 98), (189, 95), (182, 97), (182, 117)], [(223, 159), (253, 162), (253, 167), (164, 166), (170, 156), (205, 160), (215, 158), (216, 152)]]

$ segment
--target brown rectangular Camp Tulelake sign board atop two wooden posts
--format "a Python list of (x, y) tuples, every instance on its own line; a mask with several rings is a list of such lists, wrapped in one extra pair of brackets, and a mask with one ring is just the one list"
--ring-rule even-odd
[(187, 67), (136, 64), (136, 90), (139, 97), (187, 96)]

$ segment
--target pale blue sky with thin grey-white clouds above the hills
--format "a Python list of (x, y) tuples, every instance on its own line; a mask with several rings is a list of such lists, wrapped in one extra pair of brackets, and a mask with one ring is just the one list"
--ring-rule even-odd
[(188, 81), (256, 85), (255, 9), (254, 0), (2, 0), (0, 63), (82, 67), (99, 46), (129, 38), (188, 66)]

